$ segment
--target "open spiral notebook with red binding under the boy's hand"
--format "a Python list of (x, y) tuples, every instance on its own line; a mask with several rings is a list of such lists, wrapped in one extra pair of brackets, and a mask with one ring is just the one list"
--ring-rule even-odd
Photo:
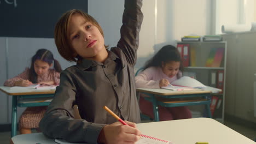
[[(85, 144), (83, 142), (67, 142), (62, 139), (55, 139), (56, 143), (59, 144)], [(139, 139), (136, 144), (174, 144), (171, 141), (161, 140), (156, 137), (141, 135), (141, 139)]]

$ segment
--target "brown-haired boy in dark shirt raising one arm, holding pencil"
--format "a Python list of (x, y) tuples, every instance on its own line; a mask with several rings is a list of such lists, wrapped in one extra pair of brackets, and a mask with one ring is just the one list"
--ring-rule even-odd
[[(77, 62), (61, 72), (60, 86), (40, 121), (40, 130), (49, 137), (69, 142), (135, 143), (140, 131), (135, 74), (142, 0), (125, 0), (123, 25), (117, 46), (107, 49), (98, 22), (73, 9), (55, 26), (55, 44), (67, 61)], [(74, 119), (73, 105), (82, 119)], [(109, 115), (106, 105), (127, 125)]]

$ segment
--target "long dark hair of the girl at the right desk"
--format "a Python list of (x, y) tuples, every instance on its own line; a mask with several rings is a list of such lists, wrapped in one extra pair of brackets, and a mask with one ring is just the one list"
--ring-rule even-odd
[(149, 59), (143, 67), (143, 70), (149, 67), (161, 67), (162, 62), (180, 62), (179, 70), (183, 71), (182, 59), (179, 51), (175, 46), (166, 45), (160, 49), (154, 57)]

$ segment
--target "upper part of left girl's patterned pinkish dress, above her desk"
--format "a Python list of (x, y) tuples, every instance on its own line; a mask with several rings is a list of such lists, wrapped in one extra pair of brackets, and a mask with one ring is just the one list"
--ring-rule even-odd
[[(12, 79), (8, 79), (4, 82), (4, 86), (13, 87), (14, 82), (19, 79), (28, 80), (30, 68), (26, 68), (21, 74), (13, 77)], [(60, 85), (60, 73), (55, 71), (54, 69), (49, 69), (48, 73), (40, 75), (37, 77), (37, 82), (42, 81), (54, 81), (55, 85)]]

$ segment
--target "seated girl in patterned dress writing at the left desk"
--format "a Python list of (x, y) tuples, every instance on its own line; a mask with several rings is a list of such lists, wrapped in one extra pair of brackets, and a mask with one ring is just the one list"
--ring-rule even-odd
[[(53, 69), (51, 67), (53, 66)], [(21, 74), (8, 79), (4, 86), (30, 86), (33, 83), (42, 85), (59, 85), (61, 65), (54, 59), (53, 53), (46, 49), (39, 49), (31, 58), (30, 68), (26, 68)], [(29, 134), (31, 129), (39, 128), (40, 119), (46, 111), (46, 106), (27, 107), (19, 120), (20, 134)]]

